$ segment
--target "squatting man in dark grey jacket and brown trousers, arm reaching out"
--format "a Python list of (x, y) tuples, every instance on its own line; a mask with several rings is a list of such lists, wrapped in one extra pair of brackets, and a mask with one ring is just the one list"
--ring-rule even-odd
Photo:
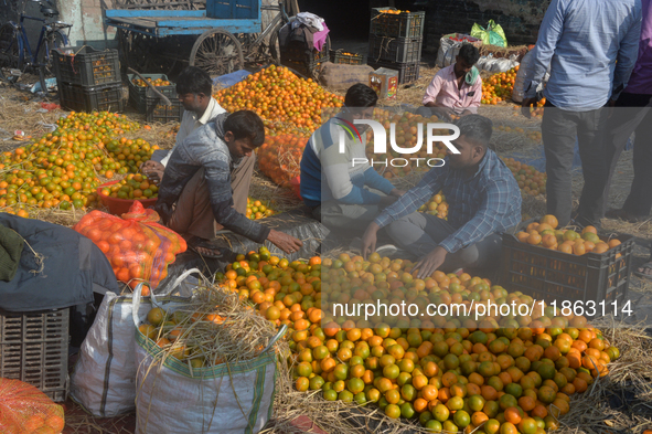
[[(218, 256), (209, 240), (222, 229), (259, 244), (269, 241), (286, 253), (302, 246), (301, 241), (252, 221), (244, 215), (245, 210), (233, 208), (234, 191), (248, 195), (253, 165), (247, 160), (264, 140), (263, 120), (253, 112), (239, 110), (218, 115), (177, 145), (165, 167), (156, 210), (190, 247)], [(243, 165), (250, 166), (249, 170), (242, 170)]]

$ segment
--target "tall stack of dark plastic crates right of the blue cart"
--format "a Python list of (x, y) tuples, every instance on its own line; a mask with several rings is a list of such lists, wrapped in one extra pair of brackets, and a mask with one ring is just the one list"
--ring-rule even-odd
[(375, 70), (386, 67), (398, 71), (400, 84), (416, 81), (419, 77), (425, 15), (425, 12), (374, 8), (367, 64)]

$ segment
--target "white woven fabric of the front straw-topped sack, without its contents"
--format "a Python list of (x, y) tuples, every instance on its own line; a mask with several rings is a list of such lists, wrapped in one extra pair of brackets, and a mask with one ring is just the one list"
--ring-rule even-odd
[(274, 343), (286, 330), (284, 326), (256, 359), (191, 372), (186, 362), (164, 357), (151, 339), (136, 329), (136, 433), (258, 433), (271, 417)]

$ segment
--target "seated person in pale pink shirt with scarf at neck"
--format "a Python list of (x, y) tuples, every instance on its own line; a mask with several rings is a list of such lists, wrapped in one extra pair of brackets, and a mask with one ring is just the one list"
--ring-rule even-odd
[(480, 52), (471, 44), (463, 44), (456, 63), (439, 70), (424, 95), (424, 107), (418, 114), (449, 119), (450, 115), (477, 114), (482, 99), (482, 80), (473, 66)]

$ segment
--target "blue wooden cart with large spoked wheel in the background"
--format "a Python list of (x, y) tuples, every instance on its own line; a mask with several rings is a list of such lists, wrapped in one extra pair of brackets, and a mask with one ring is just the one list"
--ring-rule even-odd
[[(190, 64), (214, 77), (245, 63), (279, 63), (278, 34), (290, 18), (282, 1), (260, 1), (118, 0), (120, 9), (106, 10), (105, 23), (118, 29), (125, 68), (173, 75)], [(263, 11), (278, 12), (265, 29)]]

